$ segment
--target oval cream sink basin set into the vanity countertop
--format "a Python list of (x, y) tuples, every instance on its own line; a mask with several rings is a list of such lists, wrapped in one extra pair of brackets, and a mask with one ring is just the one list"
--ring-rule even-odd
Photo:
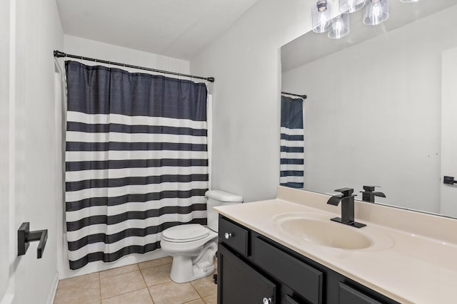
[(371, 238), (357, 228), (338, 224), (321, 214), (279, 214), (273, 222), (281, 232), (294, 239), (321, 246), (353, 250), (373, 246)]

